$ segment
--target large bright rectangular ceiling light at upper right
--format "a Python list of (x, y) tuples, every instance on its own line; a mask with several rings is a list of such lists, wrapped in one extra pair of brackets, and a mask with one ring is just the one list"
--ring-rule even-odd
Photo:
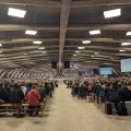
[(104, 11), (105, 19), (120, 16), (120, 15), (121, 15), (121, 9), (115, 9), (115, 10), (110, 10), (110, 11)]

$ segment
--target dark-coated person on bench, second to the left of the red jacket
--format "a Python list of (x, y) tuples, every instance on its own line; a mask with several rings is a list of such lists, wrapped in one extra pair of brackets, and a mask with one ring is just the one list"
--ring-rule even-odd
[(14, 83), (13, 88), (10, 90), (9, 98), (11, 104), (19, 104), (22, 103), (22, 100), (24, 99), (24, 94), (20, 87), (21, 85)]

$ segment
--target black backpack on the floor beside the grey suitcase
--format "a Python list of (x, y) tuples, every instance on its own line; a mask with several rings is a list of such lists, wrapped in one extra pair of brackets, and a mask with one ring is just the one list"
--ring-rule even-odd
[(126, 104), (124, 103), (120, 103), (118, 106), (118, 115), (119, 116), (128, 116), (127, 112), (127, 108), (126, 108)]

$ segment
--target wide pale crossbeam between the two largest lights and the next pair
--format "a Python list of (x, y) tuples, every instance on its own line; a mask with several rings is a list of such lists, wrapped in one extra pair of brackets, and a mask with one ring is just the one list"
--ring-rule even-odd
[[(69, 26), (68, 31), (88, 31), (88, 29), (109, 29), (109, 31), (130, 31), (131, 24), (87, 24)], [(60, 27), (58, 25), (32, 25), (32, 24), (0, 24), (0, 31), (53, 31), (58, 32)]]

